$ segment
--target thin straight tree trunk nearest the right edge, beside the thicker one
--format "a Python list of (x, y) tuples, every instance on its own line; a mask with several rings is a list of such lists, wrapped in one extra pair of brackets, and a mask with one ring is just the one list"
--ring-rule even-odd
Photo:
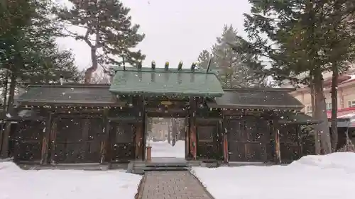
[(337, 111), (338, 111), (338, 66), (332, 64), (332, 152), (337, 151), (338, 144), (338, 127), (337, 127)]

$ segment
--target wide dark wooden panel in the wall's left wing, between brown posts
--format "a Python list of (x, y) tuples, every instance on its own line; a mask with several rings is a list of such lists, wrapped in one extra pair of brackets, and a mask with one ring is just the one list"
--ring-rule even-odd
[(101, 118), (58, 118), (52, 159), (58, 164), (98, 163), (103, 129)]

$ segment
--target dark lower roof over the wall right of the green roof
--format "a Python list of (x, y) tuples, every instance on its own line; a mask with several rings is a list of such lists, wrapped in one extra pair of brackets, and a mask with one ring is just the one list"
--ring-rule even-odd
[(208, 103), (210, 108), (261, 108), (279, 110), (301, 110), (302, 103), (290, 95), (291, 89), (241, 88), (224, 89), (224, 96)]

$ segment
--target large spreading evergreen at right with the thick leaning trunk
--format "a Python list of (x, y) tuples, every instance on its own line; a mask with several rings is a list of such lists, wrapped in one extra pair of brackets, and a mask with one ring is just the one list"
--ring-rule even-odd
[[(273, 74), (274, 79), (279, 81), (290, 79), (297, 83), (308, 84), (314, 91), (315, 118), (322, 120), (322, 123), (317, 125), (316, 131), (320, 135), (320, 144), (324, 153), (332, 150), (325, 111), (322, 72), (329, 70), (332, 63), (340, 60), (343, 62), (349, 58), (347, 55), (351, 55), (348, 54), (351, 44), (337, 45), (344, 47), (342, 50), (334, 45), (348, 38), (339, 32), (334, 32), (336, 16), (340, 15), (339, 18), (343, 19), (351, 16), (349, 10), (343, 13), (336, 11), (335, 3), (338, 4), (340, 1), (342, 0), (251, 0), (251, 15), (246, 14), (246, 30), (253, 41), (251, 48), (271, 60), (269, 72)], [(342, 7), (340, 9), (342, 11), (346, 10), (345, 2), (343, 1), (344, 4), (339, 6)], [(333, 15), (334, 13), (339, 15)], [(266, 38), (263, 37), (264, 35)], [(345, 56), (334, 56), (337, 52)], [(337, 69), (342, 71), (345, 68), (344, 65), (338, 65)], [(300, 79), (300, 74), (307, 74), (306, 78)]]

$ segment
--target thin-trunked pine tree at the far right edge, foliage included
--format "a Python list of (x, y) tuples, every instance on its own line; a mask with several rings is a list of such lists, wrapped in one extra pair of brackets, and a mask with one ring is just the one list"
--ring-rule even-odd
[(338, 76), (355, 61), (355, 2), (334, 0), (327, 2), (324, 20), (324, 55), (332, 72), (332, 151), (337, 151), (337, 87)]

